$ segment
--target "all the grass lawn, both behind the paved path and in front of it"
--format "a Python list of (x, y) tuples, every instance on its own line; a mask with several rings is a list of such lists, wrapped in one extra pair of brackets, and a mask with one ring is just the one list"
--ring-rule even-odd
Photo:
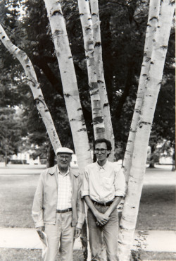
[[(2, 169), (0, 174), (2, 174)], [(155, 169), (152, 172), (153, 176), (156, 174), (159, 175), (160, 170)], [(34, 228), (31, 210), (38, 179), (39, 174), (0, 176), (0, 227)], [(176, 230), (175, 185), (148, 184), (143, 187), (136, 228), (139, 230)], [(140, 253), (140, 257), (137, 257), (136, 260), (176, 260), (175, 254), (144, 252)], [(76, 251), (74, 255), (75, 261), (83, 260), (82, 251)], [(0, 248), (0, 260), (39, 261), (41, 260), (41, 250)]]

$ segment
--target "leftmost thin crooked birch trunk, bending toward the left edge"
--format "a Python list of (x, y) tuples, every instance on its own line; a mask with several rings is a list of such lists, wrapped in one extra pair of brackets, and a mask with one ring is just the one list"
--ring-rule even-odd
[(32, 90), (34, 101), (36, 102), (37, 105), (37, 109), (39, 111), (39, 114), (42, 116), (42, 120), (44, 121), (44, 125), (49, 135), (49, 139), (51, 140), (51, 144), (54, 148), (54, 152), (56, 152), (56, 149), (58, 147), (61, 147), (61, 142), (56, 133), (54, 122), (51, 118), (49, 109), (46, 107), (46, 103), (44, 102), (42, 90), (40, 89), (39, 83), (37, 81), (37, 76), (35, 74), (32, 63), (29, 57), (27, 56), (27, 54), (25, 54), (24, 51), (20, 50), (18, 47), (15, 46), (15, 44), (11, 42), (11, 40), (9, 40), (8, 36), (6, 35), (6, 32), (4, 31), (1, 25), (0, 25), (0, 38), (1, 38), (1, 42), (4, 44), (6, 49), (8, 49), (8, 51), (10, 51), (11, 54), (13, 54), (13, 56), (16, 59), (18, 59), (18, 61), (20, 61), (21, 65), (25, 70), (27, 83), (28, 85), (30, 85), (30, 89)]

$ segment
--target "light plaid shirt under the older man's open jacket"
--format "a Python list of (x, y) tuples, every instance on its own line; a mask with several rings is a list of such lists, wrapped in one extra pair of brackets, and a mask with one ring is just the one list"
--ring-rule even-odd
[(69, 170), (62, 175), (59, 169), (58, 172), (58, 204), (57, 210), (65, 210), (72, 207), (72, 186), (70, 181)]

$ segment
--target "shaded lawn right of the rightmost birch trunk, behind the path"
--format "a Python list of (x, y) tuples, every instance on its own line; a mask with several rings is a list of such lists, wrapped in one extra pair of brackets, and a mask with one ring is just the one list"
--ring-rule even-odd
[(175, 186), (144, 186), (137, 229), (175, 230)]

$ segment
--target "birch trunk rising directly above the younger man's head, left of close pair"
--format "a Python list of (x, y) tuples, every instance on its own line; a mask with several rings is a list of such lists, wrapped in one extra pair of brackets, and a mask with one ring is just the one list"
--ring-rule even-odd
[(103, 113), (101, 110), (101, 101), (99, 96), (99, 87), (96, 78), (96, 68), (94, 61), (94, 41), (89, 1), (77, 0), (77, 2), (80, 11), (80, 20), (82, 24), (82, 32), (84, 38), (84, 49), (87, 61), (87, 74), (89, 79), (89, 92), (92, 104), (94, 138), (105, 138), (105, 126), (103, 122)]

